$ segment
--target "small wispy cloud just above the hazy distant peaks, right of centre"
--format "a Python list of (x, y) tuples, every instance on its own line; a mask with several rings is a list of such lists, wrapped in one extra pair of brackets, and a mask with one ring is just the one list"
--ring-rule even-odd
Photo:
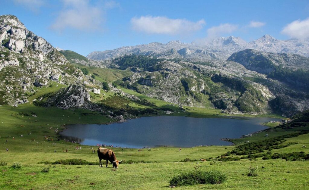
[(238, 29), (238, 26), (235, 24), (220, 24), (219, 26), (211, 27), (207, 29), (207, 38), (214, 39), (222, 34), (229, 34)]

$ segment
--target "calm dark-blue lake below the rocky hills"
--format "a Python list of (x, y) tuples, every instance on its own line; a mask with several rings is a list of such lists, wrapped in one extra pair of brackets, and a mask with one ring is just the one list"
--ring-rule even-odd
[(62, 139), (85, 145), (109, 144), (141, 148), (155, 146), (194, 147), (199, 145), (230, 145), (221, 138), (240, 138), (264, 130), (261, 123), (280, 121), (276, 118), (189, 118), (158, 116), (131, 119), (109, 125), (68, 125), (60, 133)]

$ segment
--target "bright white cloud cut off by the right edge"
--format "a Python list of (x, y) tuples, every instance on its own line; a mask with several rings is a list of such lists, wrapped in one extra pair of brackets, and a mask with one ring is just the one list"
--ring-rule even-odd
[(282, 29), (281, 33), (286, 34), (291, 38), (309, 38), (309, 18), (291, 22)]

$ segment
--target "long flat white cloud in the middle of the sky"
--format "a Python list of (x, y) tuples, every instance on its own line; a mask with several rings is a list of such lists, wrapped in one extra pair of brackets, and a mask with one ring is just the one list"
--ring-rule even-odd
[(141, 16), (140, 18), (132, 18), (131, 24), (136, 31), (171, 35), (198, 31), (205, 25), (205, 21), (191, 22), (186, 19), (169, 19), (163, 16)]

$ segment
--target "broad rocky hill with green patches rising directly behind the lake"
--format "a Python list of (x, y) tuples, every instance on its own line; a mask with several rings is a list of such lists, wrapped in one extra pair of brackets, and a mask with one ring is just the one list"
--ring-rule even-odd
[(268, 101), (274, 98), (273, 94), (267, 87), (245, 79), (266, 79), (265, 75), (249, 71), (233, 61), (214, 60), (201, 65), (181, 60), (155, 62), (145, 57), (124, 56), (113, 64), (134, 71), (116, 81), (118, 85), (149, 97), (177, 105), (222, 109), (225, 113), (271, 112)]

